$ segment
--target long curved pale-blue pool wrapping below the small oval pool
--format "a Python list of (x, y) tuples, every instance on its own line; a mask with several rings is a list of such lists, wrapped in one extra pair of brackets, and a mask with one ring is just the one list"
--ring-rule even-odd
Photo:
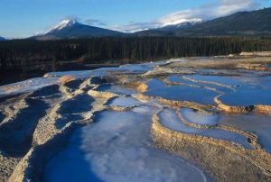
[(212, 137), (215, 139), (221, 139), (225, 141), (233, 141), (242, 145), (247, 149), (253, 149), (248, 143), (248, 139), (236, 132), (229, 132), (220, 129), (198, 129), (194, 127), (189, 127), (181, 122), (177, 114), (172, 109), (164, 109), (161, 113), (158, 114), (159, 121), (164, 125), (164, 127), (177, 131), (184, 132), (187, 134), (198, 134), (201, 136)]

